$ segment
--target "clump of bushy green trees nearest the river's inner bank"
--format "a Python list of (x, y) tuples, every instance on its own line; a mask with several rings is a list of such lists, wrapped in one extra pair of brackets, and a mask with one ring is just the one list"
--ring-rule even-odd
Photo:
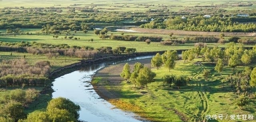
[(147, 87), (148, 83), (154, 82), (156, 73), (152, 72), (148, 67), (144, 67), (143, 64), (136, 62), (132, 73), (130, 72), (130, 65), (126, 63), (120, 76), (129, 83), (134, 84), (135, 87), (139, 86), (142, 89), (145, 86)]

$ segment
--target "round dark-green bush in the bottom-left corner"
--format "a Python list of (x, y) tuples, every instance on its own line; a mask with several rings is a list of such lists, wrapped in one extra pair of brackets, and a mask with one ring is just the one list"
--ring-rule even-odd
[(10, 100), (4, 108), (1, 110), (1, 115), (4, 115), (9, 118), (13, 118), (15, 121), (25, 118), (26, 114), (24, 113), (24, 107), (20, 102)]

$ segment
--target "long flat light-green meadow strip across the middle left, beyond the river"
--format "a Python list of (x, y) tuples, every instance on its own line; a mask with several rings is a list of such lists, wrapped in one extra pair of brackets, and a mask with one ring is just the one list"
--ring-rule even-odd
[[(2, 30), (4, 31), (4, 30)], [(20, 42), (20, 41), (36, 41), (40, 43), (49, 43), (49, 44), (68, 44), (68, 45), (76, 45), (76, 46), (91, 46), (96, 48), (100, 48), (103, 46), (110, 46), (113, 49), (118, 46), (125, 46), (127, 48), (136, 48), (137, 52), (147, 52), (147, 51), (166, 51), (166, 50), (178, 50), (178, 49), (191, 49), (194, 45), (193, 44), (184, 44), (184, 45), (160, 45), (159, 42), (151, 42), (148, 45), (145, 42), (141, 41), (116, 41), (112, 39), (101, 39), (99, 35), (93, 33), (93, 31), (89, 31), (88, 33), (82, 33), (82, 31), (78, 31), (76, 33), (71, 33), (67, 35), (67, 39), (64, 39), (65, 34), (59, 35), (56, 39), (51, 35), (36, 35), (34, 34), (36, 30), (22, 30), (25, 33), (29, 32), (32, 35), (13, 35), (10, 36), (0, 36), (0, 41), (3, 42)], [(143, 35), (143, 36), (161, 36), (164, 39), (169, 38), (169, 35), (156, 35), (150, 33), (132, 33), (132, 32), (120, 32), (120, 31), (109, 31), (107, 34), (110, 35), (113, 33), (114, 35)], [(74, 34), (74, 35), (72, 35)], [(69, 36), (74, 36), (80, 38), (78, 40), (68, 39)], [(89, 39), (93, 39), (94, 41), (88, 41)]]

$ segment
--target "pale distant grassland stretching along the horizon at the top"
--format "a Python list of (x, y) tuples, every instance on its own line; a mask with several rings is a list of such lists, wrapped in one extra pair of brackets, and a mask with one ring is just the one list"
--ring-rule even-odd
[[(19, 3), (19, 4), (17, 4)], [(238, 7), (238, 4), (248, 4), (254, 3), (252, 6), (248, 7)], [(119, 11), (119, 12), (143, 12), (148, 9), (162, 9), (163, 6), (172, 8), (172, 11), (184, 10), (188, 7), (194, 6), (212, 6), (212, 8), (218, 7), (219, 9), (226, 10), (237, 10), (237, 9), (252, 9), (255, 8), (255, 2), (251, 0), (150, 0), (150, 1), (140, 1), (140, 0), (44, 0), (44, 1), (33, 1), (33, 0), (1, 0), (0, 8), (4, 7), (66, 7), (66, 6), (76, 6), (76, 7), (88, 7), (96, 8), (100, 11)]]

